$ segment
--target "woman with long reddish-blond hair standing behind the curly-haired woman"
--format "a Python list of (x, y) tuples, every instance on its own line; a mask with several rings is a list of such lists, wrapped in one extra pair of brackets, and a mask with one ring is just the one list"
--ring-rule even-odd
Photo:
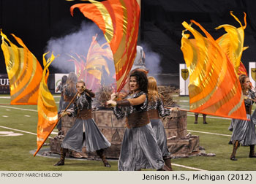
[(165, 161), (165, 165), (172, 169), (170, 162), (170, 151), (167, 147), (167, 137), (165, 128), (162, 124), (161, 117), (170, 115), (170, 109), (165, 109), (163, 104), (163, 96), (158, 93), (157, 80), (154, 77), (148, 77), (148, 115), (150, 118), (151, 126), (157, 137), (157, 144), (162, 151), (162, 158)]

